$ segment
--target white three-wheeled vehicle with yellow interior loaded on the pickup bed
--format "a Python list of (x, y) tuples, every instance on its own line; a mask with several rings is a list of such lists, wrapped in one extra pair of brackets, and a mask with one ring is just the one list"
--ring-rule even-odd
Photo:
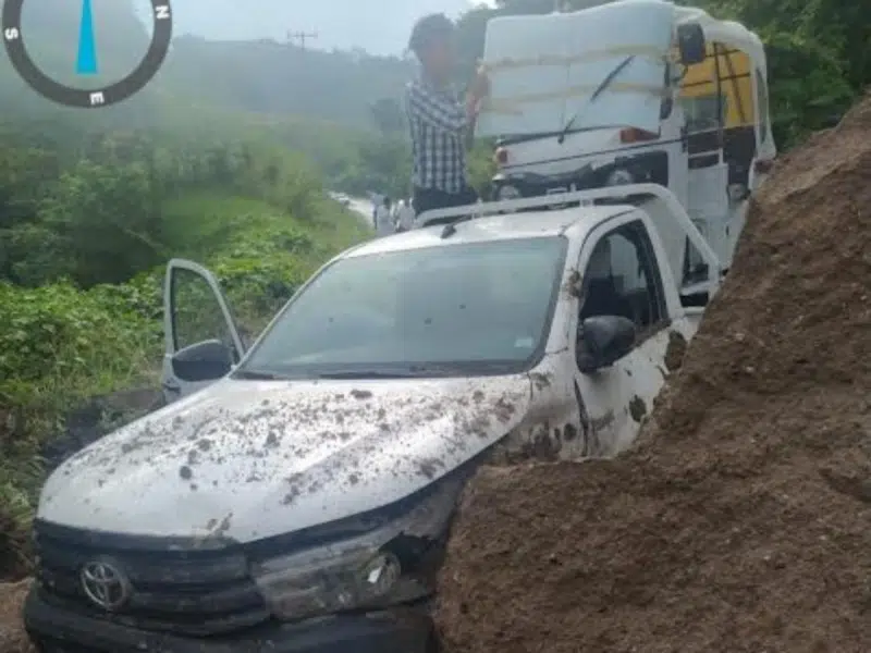
[[(477, 135), (499, 138), (495, 199), (659, 184), (728, 268), (776, 156), (756, 34), (700, 9), (624, 0), (492, 19), (483, 60), (492, 98)], [(691, 285), (704, 271), (680, 246), (678, 280)]]

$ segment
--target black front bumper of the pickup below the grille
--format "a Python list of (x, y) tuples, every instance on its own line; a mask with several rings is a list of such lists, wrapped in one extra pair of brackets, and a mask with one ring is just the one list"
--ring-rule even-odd
[(57, 607), (30, 589), (27, 632), (45, 653), (429, 653), (431, 619), (422, 609), (268, 623), (238, 633), (193, 639), (150, 632)]

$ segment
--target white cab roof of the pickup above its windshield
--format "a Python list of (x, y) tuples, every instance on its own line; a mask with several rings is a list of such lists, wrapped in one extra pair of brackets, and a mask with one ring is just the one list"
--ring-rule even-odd
[(340, 258), (538, 236), (584, 237), (603, 220), (634, 209), (630, 205), (580, 206), (557, 211), (487, 215), (456, 223), (456, 231), (450, 236), (444, 236), (445, 224), (425, 226), (371, 241), (346, 251)]

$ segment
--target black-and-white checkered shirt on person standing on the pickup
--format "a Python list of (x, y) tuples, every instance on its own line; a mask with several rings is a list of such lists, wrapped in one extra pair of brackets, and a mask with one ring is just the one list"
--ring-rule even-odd
[(422, 81), (405, 89), (405, 109), (412, 130), (414, 173), (412, 183), (456, 194), (466, 186), (465, 108), (450, 90)]

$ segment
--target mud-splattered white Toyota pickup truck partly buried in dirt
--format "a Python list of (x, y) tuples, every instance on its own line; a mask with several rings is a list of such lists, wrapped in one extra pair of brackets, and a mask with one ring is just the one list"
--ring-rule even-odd
[[(633, 442), (703, 310), (684, 305), (662, 233), (699, 242), (707, 292), (720, 283), (667, 189), (621, 190), (649, 199), (478, 205), (357, 246), (247, 350), (214, 278), (171, 261), (170, 404), (46, 483), (34, 640), (433, 650), (428, 601), (468, 476), (491, 456), (613, 456)], [(554, 199), (576, 204), (545, 210)], [(484, 209), (514, 212), (473, 218)], [(204, 293), (222, 317), (213, 333), (198, 331), (216, 324), (208, 311), (182, 305)]]

